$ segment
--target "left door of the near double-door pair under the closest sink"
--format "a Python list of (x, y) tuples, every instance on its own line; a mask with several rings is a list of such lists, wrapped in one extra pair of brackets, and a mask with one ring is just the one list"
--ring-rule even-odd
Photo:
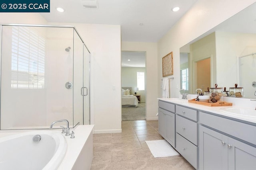
[(199, 169), (228, 169), (228, 137), (199, 126)]

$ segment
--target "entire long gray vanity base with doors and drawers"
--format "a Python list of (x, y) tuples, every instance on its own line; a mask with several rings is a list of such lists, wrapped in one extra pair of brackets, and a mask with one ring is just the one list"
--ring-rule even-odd
[(158, 100), (159, 133), (194, 168), (255, 170), (256, 123)]

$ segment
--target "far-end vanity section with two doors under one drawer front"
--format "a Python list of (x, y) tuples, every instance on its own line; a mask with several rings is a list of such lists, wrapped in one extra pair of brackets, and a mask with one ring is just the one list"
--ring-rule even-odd
[(175, 147), (175, 105), (158, 101), (158, 132)]

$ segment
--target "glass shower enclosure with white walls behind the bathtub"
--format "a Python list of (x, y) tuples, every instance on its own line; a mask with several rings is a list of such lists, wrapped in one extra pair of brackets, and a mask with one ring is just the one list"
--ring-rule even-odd
[(71, 128), (90, 124), (90, 51), (76, 28), (0, 29), (0, 129), (47, 129), (60, 119)]

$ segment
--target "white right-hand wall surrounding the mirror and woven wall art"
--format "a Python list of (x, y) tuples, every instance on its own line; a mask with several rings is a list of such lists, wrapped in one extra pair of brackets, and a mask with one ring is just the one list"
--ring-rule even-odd
[[(256, 0), (198, 0), (168, 33), (158, 41), (158, 79), (162, 78), (162, 57), (173, 51), (174, 80), (170, 80), (171, 97), (179, 96), (180, 47), (254, 2)], [(162, 96), (160, 87), (161, 82), (158, 81), (158, 97)]]

